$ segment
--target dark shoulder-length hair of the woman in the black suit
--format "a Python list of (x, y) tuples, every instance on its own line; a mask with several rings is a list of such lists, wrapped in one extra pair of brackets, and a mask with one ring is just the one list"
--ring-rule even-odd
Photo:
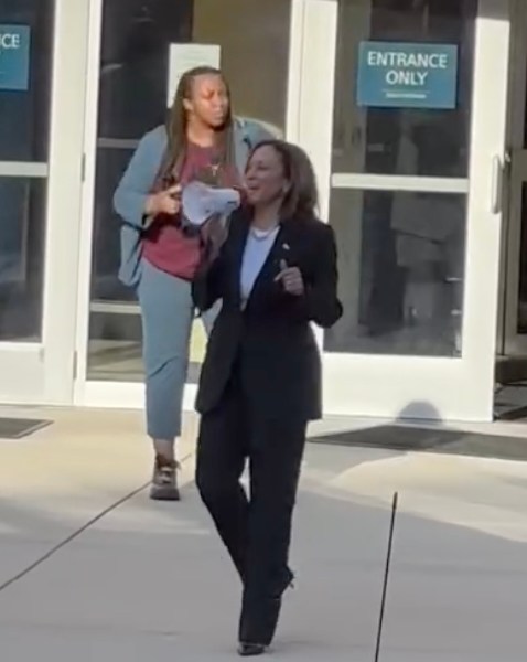
[(278, 153), (283, 177), (289, 182), (289, 190), (282, 202), (282, 217), (314, 218), (319, 207), (319, 191), (314, 168), (305, 151), (286, 140), (264, 140), (252, 149), (248, 162), (262, 147), (271, 147)]

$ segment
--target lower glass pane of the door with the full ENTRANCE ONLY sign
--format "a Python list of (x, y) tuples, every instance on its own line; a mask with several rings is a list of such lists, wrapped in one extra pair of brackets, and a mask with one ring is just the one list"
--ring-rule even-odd
[(460, 355), (464, 195), (334, 190), (331, 224), (344, 316), (325, 350)]

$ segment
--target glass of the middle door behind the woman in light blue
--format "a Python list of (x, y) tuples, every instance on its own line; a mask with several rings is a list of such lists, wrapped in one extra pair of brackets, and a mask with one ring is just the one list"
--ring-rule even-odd
[[(290, 0), (104, 0), (94, 203), (88, 377), (140, 381), (141, 323), (118, 278), (119, 220), (111, 197), (141, 136), (164, 121), (169, 44), (219, 44), (235, 114), (286, 126)], [(261, 63), (266, 66), (262, 67)], [(247, 85), (258, 71), (258, 85)], [(205, 338), (192, 337), (190, 381)]]

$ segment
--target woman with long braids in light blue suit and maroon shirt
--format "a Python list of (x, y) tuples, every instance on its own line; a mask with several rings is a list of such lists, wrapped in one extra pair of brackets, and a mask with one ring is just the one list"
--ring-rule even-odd
[[(141, 307), (147, 431), (155, 455), (151, 498), (178, 501), (175, 439), (194, 318), (191, 284), (202, 260), (201, 236), (180, 223), (181, 188), (198, 179), (240, 186), (250, 150), (269, 136), (232, 114), (218, 70), (183, 75), (166, 126), (140, 141), (115, 193), (122, 220), (119, 277)], [(204, 319), (209, 328), (213, 319)]]

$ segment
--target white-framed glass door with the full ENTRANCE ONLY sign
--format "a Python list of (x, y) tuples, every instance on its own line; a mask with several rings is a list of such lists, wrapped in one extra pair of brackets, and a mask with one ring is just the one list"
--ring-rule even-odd
[(306, 0), (305, 12), (316, 47), (301, 140), (345, 308), (322, 339), (326, 412), (490, 419), (508, 3)]

